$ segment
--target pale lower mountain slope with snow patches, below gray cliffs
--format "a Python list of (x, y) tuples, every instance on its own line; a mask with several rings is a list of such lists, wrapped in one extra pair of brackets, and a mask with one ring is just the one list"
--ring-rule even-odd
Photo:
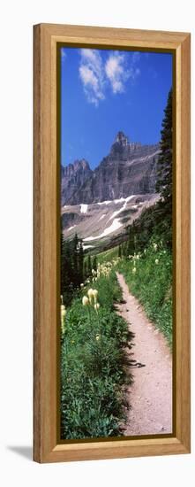
[(156, 194), (131, 195), (91, 205), (64, 205), (64, 238), (71, 239), (77, 232), (85, 250), (105, 250), (123, 241), (125, 228), (157, 199)]

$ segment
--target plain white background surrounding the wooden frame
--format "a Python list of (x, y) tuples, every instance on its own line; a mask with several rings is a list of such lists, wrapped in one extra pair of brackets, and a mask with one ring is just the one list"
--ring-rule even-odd
[[(38, 465), (32, 444), (33, 24), (181, 30), (194, 33), (192, 0), (7, 0), (0, 27), (0, 476), (1, 484), (87, 487), (193, 484), (194, 442), (186, 456)], [(192, 39), (193, 41), (193, 39)], [(193, 68), (194, 69), (194, 68)], [(194, 77), (192, 77), (192, 81)], [(194, 105), (194, 97), (192, 98)], [(193, 131), (192, 131), (193, 134)], [(193, 143), (193, 140), (192, 140)], [(192, 184), (194, 181), (192, 165)], [(194, 192), (192, 192), (194, 208)], [(192, 247), (194, 229), (192, 213)], [(194, 258), (192, 256), (192, 266)], [(194, 286), (193, 286), (194, 290)], [(194, 311), (192, 313), (192, 324)], [(192, 344), (194, 333), (192, 331)], [(194, 380), (194, 349), (192, 357)], [(192, 409), (194, 408), (192, 390)], [(194, 437), (192, 414), (192, 437)]]

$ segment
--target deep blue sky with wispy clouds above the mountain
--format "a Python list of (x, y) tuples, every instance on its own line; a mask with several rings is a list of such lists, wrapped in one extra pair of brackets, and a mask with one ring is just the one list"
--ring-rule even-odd
[(157, 143), (172, 85), (172, 55), (61, 48), (61, 162), (94, 168), (119, 130)]

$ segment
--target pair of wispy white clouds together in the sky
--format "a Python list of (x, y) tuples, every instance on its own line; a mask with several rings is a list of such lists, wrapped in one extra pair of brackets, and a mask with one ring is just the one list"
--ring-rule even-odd
[(125, 91), (128, 80), (135, 81), (140, 70), (139, 52), (120, 53), (110, 51), (109, 57), (103, 62), (99, 50), (81, 49), (79, 77), (89, 103), (98, 106), (105, 99), (107, 89), (111, 88), (116, 95)]

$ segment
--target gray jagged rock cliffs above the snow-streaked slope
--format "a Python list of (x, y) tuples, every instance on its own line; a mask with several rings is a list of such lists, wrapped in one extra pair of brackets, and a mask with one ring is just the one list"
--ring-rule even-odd
[(155, 193), (159, 152), (159, 144), (131, 143), (123, 132), (118, 132), (109, 155), (94, 171), (86, 161), (82, 167), (78, 166), (81, 161), (76, 161), (64, 168), (62, 201), (68, 205), (92, 204)]

